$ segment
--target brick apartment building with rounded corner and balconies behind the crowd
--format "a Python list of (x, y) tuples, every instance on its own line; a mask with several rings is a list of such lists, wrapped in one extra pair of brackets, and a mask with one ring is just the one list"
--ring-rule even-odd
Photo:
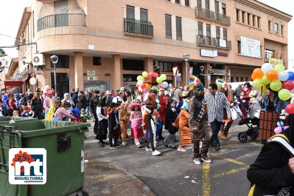
[[(54, 87), (51, 55), (59, 57), (60, 94), (69, 85), (134, 87), (142, 71), (160, 71), (172, 83), (174, 66), (183, 86), (184, 53), (190, 54), (188, 71), (206, 85), (218, 78), (243, 82), (270, 58), (288, 65), (291, 19), (257, 0), (32, 0), (15, 44), (24, 90)], [(32, 65), (36, 53), (44, 55), (38, 68)], [(34, 87), (30, 77), (37, 78)]]

